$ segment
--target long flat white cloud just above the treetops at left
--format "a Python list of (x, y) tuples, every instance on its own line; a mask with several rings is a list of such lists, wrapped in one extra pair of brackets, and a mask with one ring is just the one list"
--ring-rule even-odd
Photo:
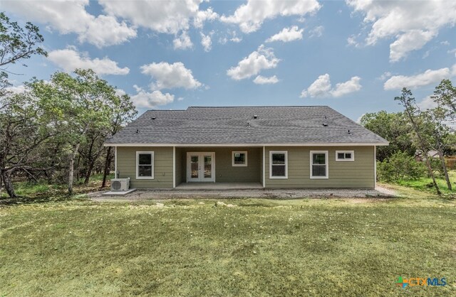
[(117, 62), (107, 57), (103, 59), (90, 59), (86, 55), (81, 55), (81, 53), (78, 53), (73, 48), (53, 50), (48, 53), (48, 60), (66, 72), (73, 72), (76, 68), (90, 68), (98, 75), (127, 75), (130, 72), (128, 67), (119, 68)]

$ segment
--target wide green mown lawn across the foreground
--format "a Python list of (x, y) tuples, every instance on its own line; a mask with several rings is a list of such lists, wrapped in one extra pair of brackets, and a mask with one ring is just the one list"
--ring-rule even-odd
[(456, 201), (410, 193), (0, 207), (0, 296), (455, 296)]

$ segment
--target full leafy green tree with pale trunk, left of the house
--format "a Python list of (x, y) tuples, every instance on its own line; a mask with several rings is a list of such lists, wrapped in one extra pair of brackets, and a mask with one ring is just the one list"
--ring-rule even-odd
[[(88, 143), (89, 134), (110, 129), (115, 114), (113, 102), (118, 100), (114, 87), (101, 80), (93, 70), (77, 69), (74, 73), (76, 77), (56, 72), (49, 82), (33, 82), (36, 96), (46, 102), (48, 107), (52, 107), (53, 113), (58, 117), (61, 137), (66, 139), (68, 144), (70, 195), (73, 193), (76, 156), (80, 153), (81, 147)], [(90, 158), (93, 158), (93, 152), (90, 152)], [(93, 166), (93, 163), (89, 164), (90, 166)]]

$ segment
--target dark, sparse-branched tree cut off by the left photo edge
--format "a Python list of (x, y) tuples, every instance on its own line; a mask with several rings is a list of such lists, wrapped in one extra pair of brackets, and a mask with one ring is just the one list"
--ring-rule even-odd
[[(14, 95), (7, 90), (9, 83), (9, 65), (31, 58), (32, 55), (47, 55), (38, 46), (43, 43), (43, 36), (38, 27), (26, 23), (22, 28), (5, 13), (0, 13), (0, 185), (4, 183), (11, 198), (16, 197), (11, 174), (29, 165), (31, 151), (46, 139), (43, 131), (35, 131), (36, 114), (30, 107), (36, 102), (28, 94)], [(30, 137), (24, 141), (24, 136)], [(1, 188), (1, 186), (0, 186)]]

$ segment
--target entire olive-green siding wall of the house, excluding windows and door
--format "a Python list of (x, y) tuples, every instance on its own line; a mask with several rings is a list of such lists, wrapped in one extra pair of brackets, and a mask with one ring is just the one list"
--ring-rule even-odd
[[(136, 179), (136, 151), (154, 152), (154, 179)], [(187, 152), (215, 153), (216, 183), (262, 183), (263, 148), (175, 148), (176, 185), (187, 179)], [(232, 151), (247, 151), (247, 166), (232, 166)], [(269, 151), (288, 151), (288, 178), (269, 178)], [(310, 178), (310, 151), (328, 151), (328, 179)], [(354, 151), (355, 161), (336, 161), (336, 151)], [(117, 148), (118, 178), (130, 178), (132, 188), (172, 188), (172, 147)], [(264, 183), (266, 188), (374, 188), (375, 148), (373, 146), (338, 147), (266, 147)]]

